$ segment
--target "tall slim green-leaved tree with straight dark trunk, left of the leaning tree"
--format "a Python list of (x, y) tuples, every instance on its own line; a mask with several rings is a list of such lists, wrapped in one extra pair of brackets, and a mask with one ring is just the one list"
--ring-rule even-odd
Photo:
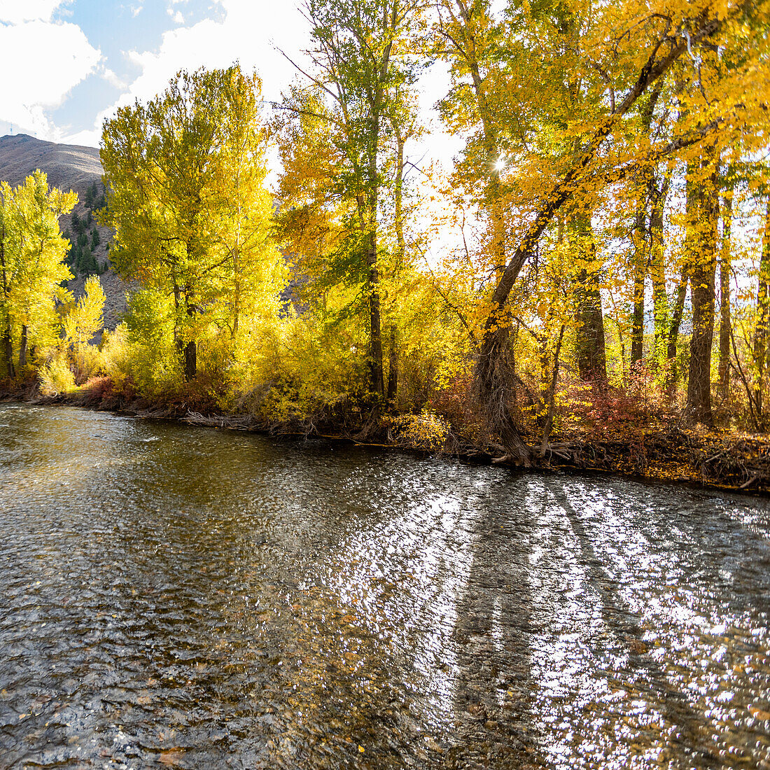
[[(331, 248), (326, 255), (337, 269), (346, 265), (351, 283), (360, 281), (363, 285), (368, 311), (369, 389), (375, 411), (386, 396), (383, 192), (393, 192), (398, 209), (403, 144), (409, 138), (400, 105), (413, 81), (409, 46), (419, 11), (416, 0), (309, 0), (305, 13), (313, 30), (313, 47), (308, 52), (312, 67), (303, 73), (313, 85), (313, 93), (295, 91), (283, 103), (284, 109), (305, 121), (306, 128), (310, 127), (308, 119), (315, 120), (316, 126), (317, 121), (327, 124), (323, 129), (325, 157), (333, 158), (329, 168), (333, 167), (335, 179), (327, 180), (332, 183), (322, 194), (333, 192), (338, 228), (336, 238), (327, 240)], [(399, 168), (394, 177), (386, 172), (393, 162), (387, 152), (390, 132), (396, 138)], [(287, 173), (296, 177), (296, 164), (294, 169), (287, 169)], [(316, 186), (316, 201), (319, 190)], [(313, 210), (321, 209), (315, 206)], [(402, 216), (399, 209), (396, 219)]]

